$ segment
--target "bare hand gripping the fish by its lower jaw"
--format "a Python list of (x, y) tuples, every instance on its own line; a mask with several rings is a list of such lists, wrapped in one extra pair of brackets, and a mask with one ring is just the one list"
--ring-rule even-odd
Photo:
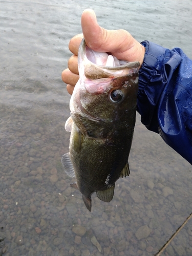
[[(62, 80), (67, 83), (67, 91), (72, 94), (79, 79), (77, 55), (82, 38), (89, 48), (96, 52), (110, 52), (118, 59), (139, 61), (143, 63), (145, 48), (129, 32), (123, 29), (106, 30), (97, 24), (95, 12), (91, 9), (83, 11), (81, 16), (83, 34), (74, 36), (69, 42), (69, 49), (74, 54), (68, 61), (68, 69), (63, 70)], [(140, 68), (139, 67), (139, 68)]]

